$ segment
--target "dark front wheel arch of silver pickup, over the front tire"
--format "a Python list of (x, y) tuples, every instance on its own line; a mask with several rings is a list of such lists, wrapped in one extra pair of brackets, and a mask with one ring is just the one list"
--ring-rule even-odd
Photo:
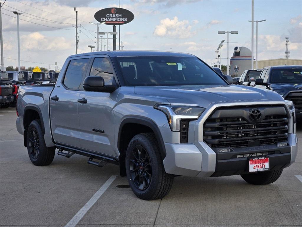
[[(131, 128), (131, 131), (127, 131)], [(120, 176), (126, 176), (125, 157), (130, 140), (139, 133), (153, 132), (158, 142), (162, 160), (166, 156), (165, 143), (162, 139), (159, 127), (156, 123), (145, 117), (129, 117), (121, 121), (117, 137), (117, 149), (119, 155)]]

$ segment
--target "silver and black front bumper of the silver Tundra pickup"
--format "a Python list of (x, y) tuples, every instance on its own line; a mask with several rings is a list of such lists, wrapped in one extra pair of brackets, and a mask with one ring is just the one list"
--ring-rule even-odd
[[(273, 147), (275, 146), (275, 147)], [(270, 170), (283, 169), (296, 160), (297, 136), (288, 134), (288, 146), (277, 147), (256, 146), (249, 147), (246, 151), (238, 153), (233, 151), (218, 155), (203, 141), (194, 143), (165, 143), (166, 157), (163, 161), (166, 173), (180, 176), (230, 176), (249, 173), (248, 160), (250, 154), (266, 153), (269, 157)], [(271, 154), (273, 153), (273, 154)], [(237, 157), (239, 155), (239, 157)], [(240, 157), (240, 155), (246, 155)], [(261, 155), (262, 156), (262, 155)]]

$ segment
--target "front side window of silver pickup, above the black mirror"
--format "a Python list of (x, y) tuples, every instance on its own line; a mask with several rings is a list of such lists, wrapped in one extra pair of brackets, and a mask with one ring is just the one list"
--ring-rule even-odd
[(107, 58), (95, 58), (89, 76), (104, 78), (104, 85), (115, 85), (113, 70)]

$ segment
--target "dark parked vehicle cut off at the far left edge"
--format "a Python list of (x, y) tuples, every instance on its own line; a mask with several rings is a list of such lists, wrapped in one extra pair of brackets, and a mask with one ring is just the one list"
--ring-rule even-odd
[(13, 86), (12, 81), (9, 80), (6, 71), (0, 72), (0, 107), (8, 108), (11, 106), (14, 98), (12, 96)]

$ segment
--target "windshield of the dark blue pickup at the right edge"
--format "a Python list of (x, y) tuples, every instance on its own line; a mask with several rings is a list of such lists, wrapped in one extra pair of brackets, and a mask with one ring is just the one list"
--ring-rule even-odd
[(295, 69), (273, 69), (271, 83), (302, 83), (302, 67)]

